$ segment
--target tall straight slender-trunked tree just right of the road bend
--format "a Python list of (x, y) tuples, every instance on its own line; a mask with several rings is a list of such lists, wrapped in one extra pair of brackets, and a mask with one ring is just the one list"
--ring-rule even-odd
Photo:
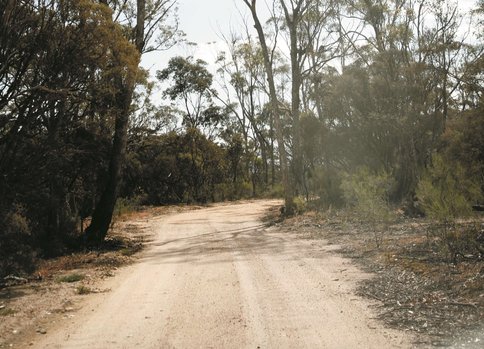
[[(292, 160), (296, 189), (309, 197), (307, 176), (314, 170), (314, 157), (303, 140), (301, 118), (313, 115), (323, 123), (326, 113), (321, 103), (325, 86), (323, 76), (331, 69), (342, 49), (338, 35), (337, 1), (280, 0), (288, 35), (291, 61)], [(311, 122), (310, 120), (306, 120)], [(305, 143), (305, 147), (303, 144)], [(323, 149), (319, 149), (323, 152)]]

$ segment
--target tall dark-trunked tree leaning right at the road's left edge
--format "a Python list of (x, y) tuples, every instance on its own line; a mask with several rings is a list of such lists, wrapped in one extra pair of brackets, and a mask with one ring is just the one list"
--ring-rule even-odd
[[(140, 57), (146, 52), (170, 46), (176, 38), (177, 28), (166, 24), (175, 10), (176, 0), (100, 0), (113, 11), (113, 20), (120, 23), (125, 35)], [(126, 156), (131, 103), (136, 88), (136, 74), (117, 82), (115, 129), (106, 184), (92, 214), (86, 237), (90, 243), (104, 240), (111, 225), (114, 207)]]

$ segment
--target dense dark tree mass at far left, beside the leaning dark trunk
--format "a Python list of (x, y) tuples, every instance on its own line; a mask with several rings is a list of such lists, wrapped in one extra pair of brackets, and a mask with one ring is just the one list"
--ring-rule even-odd
[(0, 18), (4, 260), (3, 234), (15, 232), (5, 217), (44, 253), (76, 232), (99, 188), (118, 81), (136, 74), (138, 53), (98, 2), (3, 1)]

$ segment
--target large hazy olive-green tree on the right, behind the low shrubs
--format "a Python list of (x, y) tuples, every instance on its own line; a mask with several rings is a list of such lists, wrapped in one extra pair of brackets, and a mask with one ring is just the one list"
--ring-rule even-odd
[[(340, 30), (353, 56), (341, 79), (332, 79), (336, 85), (346, 80), (346, 88), (338, 87), (332, 93), (336, 98), (327, 101), (333, 106), (341, 101), (331, 118), (358, 137), (352, 142), (362, 145), (354, 151), (361, 153), (357, 163), (392, 173), (393, 199), (408, 199), (445, 129), (459, 85), (461, 19), (448, 1), (348, 0), (344, 5), (342, 16), (351, 20)], [(350, 84), (356, 87), (352, 91)]]

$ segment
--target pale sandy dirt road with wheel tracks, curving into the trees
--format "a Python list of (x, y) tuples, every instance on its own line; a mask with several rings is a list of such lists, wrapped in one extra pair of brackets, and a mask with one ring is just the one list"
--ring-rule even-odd
[(366, 277), (324, 241), (265, 228), (276, 201), (152, 221), (139, 263), (33, 348), (410, 348), (355, 296)]

